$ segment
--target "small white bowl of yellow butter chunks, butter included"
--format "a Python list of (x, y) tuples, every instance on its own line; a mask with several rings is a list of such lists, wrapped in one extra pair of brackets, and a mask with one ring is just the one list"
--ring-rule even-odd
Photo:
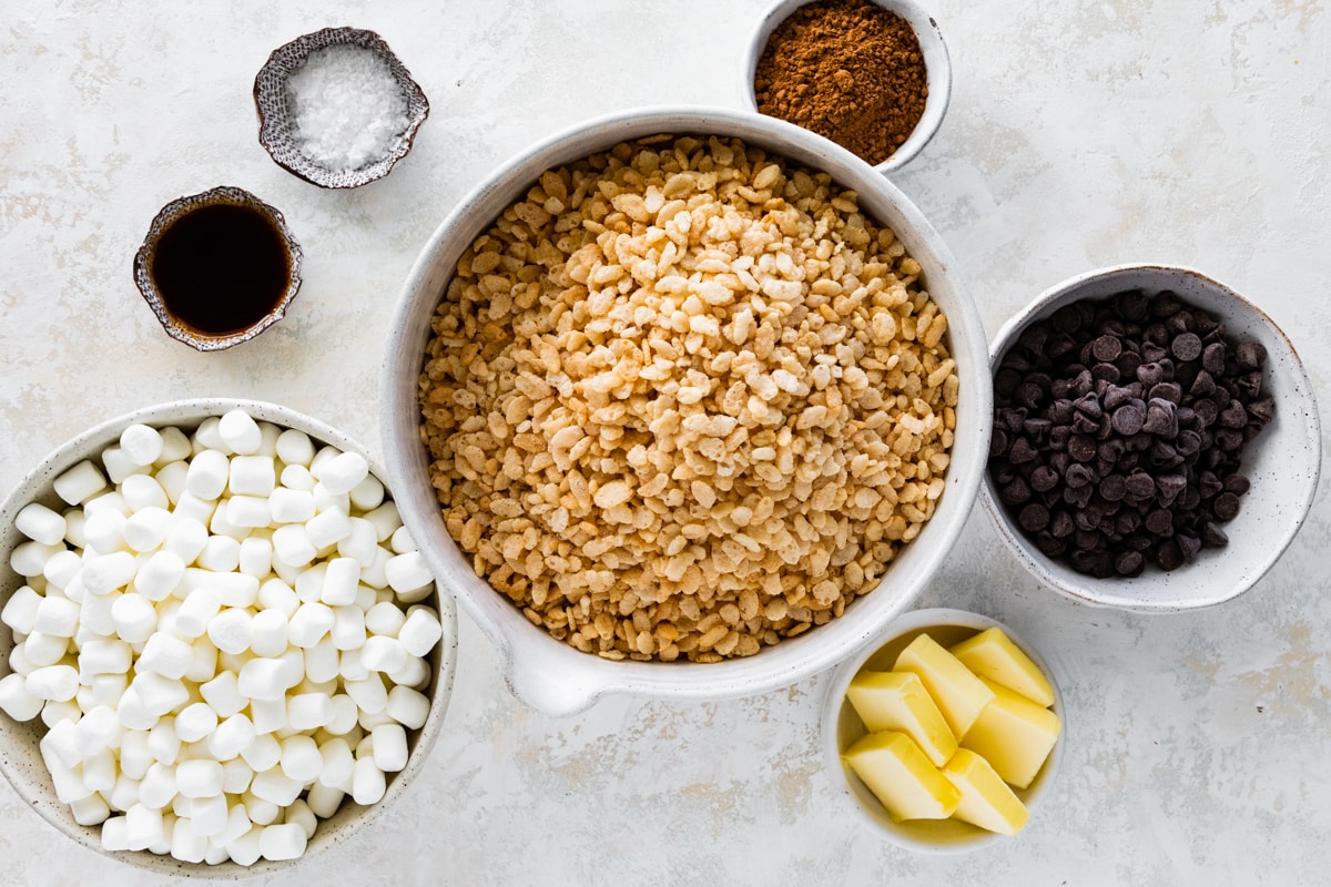
[(1020, 835), (1063, 753), (1055, 674), (978, 613), (924, 609), (837, 670), (823, 746), (847, 798), (893, 843), (966, 852)]

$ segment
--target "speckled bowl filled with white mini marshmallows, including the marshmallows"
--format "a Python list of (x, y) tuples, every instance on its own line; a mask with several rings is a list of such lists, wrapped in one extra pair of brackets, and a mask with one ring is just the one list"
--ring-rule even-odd
[(81, 844), (273, 871), (406, 789), (457, 614), (363, 447), (256, 400), (164, 403), (0, 504), (0, 770)]

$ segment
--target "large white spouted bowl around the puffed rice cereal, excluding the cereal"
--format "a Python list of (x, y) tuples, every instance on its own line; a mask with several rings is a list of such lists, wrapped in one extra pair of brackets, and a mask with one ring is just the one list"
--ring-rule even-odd
[[(764, 649), (715, 664), (612, 662), (554, 640), (534, 626), (471, 569), (449, 536), (430, 485), (419, 438), (417, 379), (430, 318), (462, 251), (539, 173), (620, 141), (656, 133), (737, 136), (808, 168), (827, 170), (860, 194), (860, 207), (890, 226), (924, 269), (922, 279), (946, 313), (957, 359), (961, 403), (948, 488), (920, 536), (904, 548), (882, 585), (855, 601), (843, 618)], [(426, 243), (403, 286), (386, 350), (381, 402), (383, 448), (403, 523), (445, 590), (455, 596), (499, 649), (512, 692), (532, 707), (571, 714), (602, 693), (724, 698), (787, 686), (840, 661), (904, 609), (942, 563), (974, 503), (989, 448), (992, 386), (984, 330), (974, 306), (952, 279), (946, 246), (909, 199), (872, 166), (799, 126), (724, 109), (646, 109), (596, 120), (562, 133), (506, 164), (465, 198)]]

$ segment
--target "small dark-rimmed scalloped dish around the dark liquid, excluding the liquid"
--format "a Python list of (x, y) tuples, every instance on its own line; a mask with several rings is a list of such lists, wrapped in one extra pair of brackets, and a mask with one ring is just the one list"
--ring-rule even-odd
[[(208, 332), (196, 330), (181, 318), (176, 317), (170, 309), (166, 307), (166, 301), (162, 298), (161, 290), (157, 289), (157, 282), (153, 279), (152, 274), (153, 257), (156, 255), (157, 245), (161, 241), (162, 233), (185, 215), (189, 215), (194, 210), (205, 206), (244, 206), (257, 210), (273, 225), (282, 241), (282, 245), (286, 247), (287, 279), (281, 297), (268, 314), (260, 318), (256, 323), (226, 335), (209, 335)], [(269, 206), (241, 188), (222, 185), (220, 188), (202, 191), (201, 194), (177, 197), (158, 210), (157, 215), (153, 218), (153, 223), (148, 227), (148, 237), (144, 238), (142, 246), (140, 246), (138, 253), (134, 254), (134, 283), (138, 285), (138, 291), (142, 294), (144, 301), (148, 302), (148, 307), (153, 310), (153, 314), (157, 315), (157, 320), (161, 322), (162, 328), (166, 330), (166, 335), (184, 342), (198, 351), (221, 351), (240, 344), (241, 342), (249, 342), (260, 332), (286, 317), (286, 306), (291, 303), (291, 299), (295, 298), (295, 293), (301, 289), (301, 245), (295, 242), (295, 237), (291, 235), (291, 230), (286, 226), (286, 219), (277, 209)]]

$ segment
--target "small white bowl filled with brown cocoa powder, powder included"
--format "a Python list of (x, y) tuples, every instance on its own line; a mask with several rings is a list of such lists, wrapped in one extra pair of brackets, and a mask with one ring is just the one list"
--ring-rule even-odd
[(759, 23), (745, 72), (755, 110), (880, 173), (920, 153), (952, 94), (938, 23), (912, 0), (781, 0)]

